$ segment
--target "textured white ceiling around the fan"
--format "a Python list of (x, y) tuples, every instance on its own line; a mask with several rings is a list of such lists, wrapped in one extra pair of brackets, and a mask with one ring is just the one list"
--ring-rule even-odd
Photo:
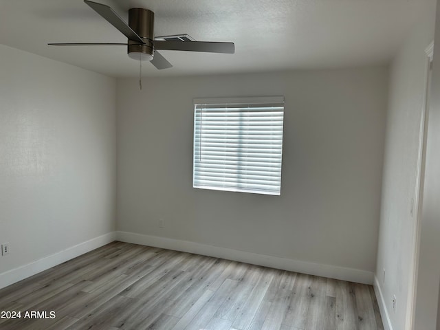
[[(434, 0), (94, 0), (126, 21), (155, 12), (155, 35), (231, 41), (235, 54), (161, 51), (173, 68), (142, 63), (143, 76), (261, 72), (387, 63)], [(0, 43), (108, 76), (139, 74), (124, 46), (47, 43), (126, 38), (82, 0), (0, 0)]]

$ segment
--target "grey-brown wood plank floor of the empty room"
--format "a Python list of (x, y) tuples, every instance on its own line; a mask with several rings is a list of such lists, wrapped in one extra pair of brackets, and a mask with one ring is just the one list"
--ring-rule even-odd
[(2, 330), (384, 329), (369, 285), (121, 242), (1, 289), (0, 311), (21, 311)]

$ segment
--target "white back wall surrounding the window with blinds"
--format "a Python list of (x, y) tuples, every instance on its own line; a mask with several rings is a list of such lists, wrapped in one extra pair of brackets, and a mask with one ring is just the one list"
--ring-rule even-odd
[[(374, 272), (387, 83), (384, 67), (118, 80), (118, 230)], [(281, 197), (192, 188), (192, 98), (274, 95)]]

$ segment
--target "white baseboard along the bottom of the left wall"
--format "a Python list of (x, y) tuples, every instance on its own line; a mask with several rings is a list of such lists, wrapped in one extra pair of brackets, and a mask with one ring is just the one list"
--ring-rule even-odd
[(0, 274), (0, 289), (2, 287), (7, 287), (8, 285), (19, 282), (24, 278), (38, 274), (39, 272), (43, 272), (43, 270), (47, 270), (50, 267), (64, 263), (65, 261), (73, 259), (76, 256), (80, 256), (81, 254), (85, 254), (96, 248), (100, 248), (100, 246), (113, 241), (115, 241), (115, 232), (109, 232), (94, 239), (89, 239), (89, 241), (79, 243), (60, 252), (51, 254), (50, 256), (46, 256), (43, 259), (39, 259), (37, 261), (33, 261), (32, 263), (14, 268), (13, 270), (3, 272)]

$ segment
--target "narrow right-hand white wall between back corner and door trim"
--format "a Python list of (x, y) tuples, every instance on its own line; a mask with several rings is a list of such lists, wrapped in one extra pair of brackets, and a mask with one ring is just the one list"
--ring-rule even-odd
[(415, 232), (411, 204), (416, 192), (420, 118), (425, 97), (425, 50), (433, 39), (434, 5), (432, 1), (430, 12), (410, 31), (391, 65), (376, 285), (382, 293), (382, 297), (377, 297), (382, 300), (382, 318), (387, 327), (395, 330), (407, 329)]

